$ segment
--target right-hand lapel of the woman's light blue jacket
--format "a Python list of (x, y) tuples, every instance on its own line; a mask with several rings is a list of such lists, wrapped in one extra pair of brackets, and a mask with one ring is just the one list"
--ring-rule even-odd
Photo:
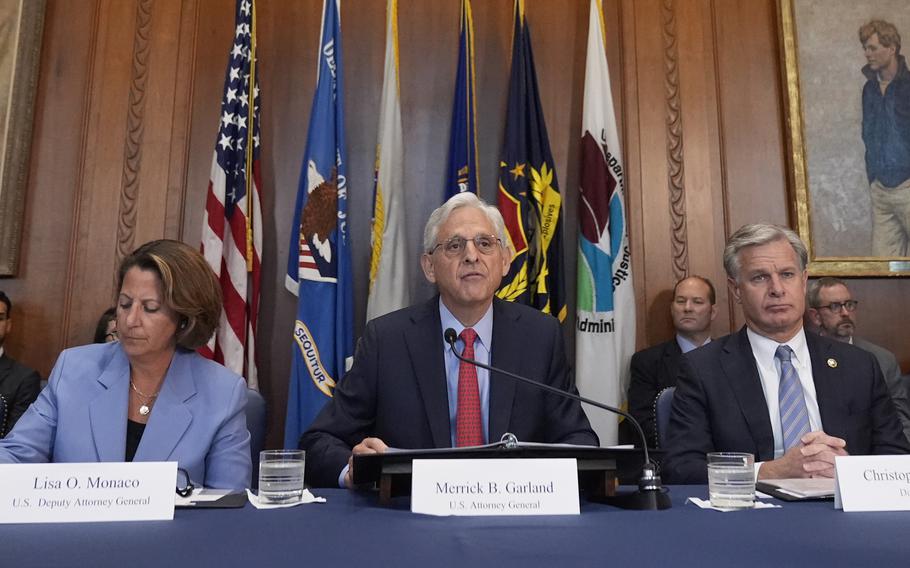
[(174, 353), (134, 461), (167, 461), (190, 427), (193, 414), (186, 403), (196, 394), (191, 361), (190, 353)]

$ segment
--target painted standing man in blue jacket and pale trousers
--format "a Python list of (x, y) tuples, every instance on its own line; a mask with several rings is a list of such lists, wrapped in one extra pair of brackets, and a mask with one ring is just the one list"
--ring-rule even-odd
[(872, 200), (872, 254), (910, 256), (910, 73), (897, 28), (872, 20), (859, 29), (866, 56), (863, 144)]

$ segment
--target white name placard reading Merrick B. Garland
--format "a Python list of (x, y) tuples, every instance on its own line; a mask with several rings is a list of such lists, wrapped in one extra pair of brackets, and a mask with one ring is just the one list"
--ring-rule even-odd
[(574, 459), (414, 460), (411, 511), (427, 515), (577, 515)]

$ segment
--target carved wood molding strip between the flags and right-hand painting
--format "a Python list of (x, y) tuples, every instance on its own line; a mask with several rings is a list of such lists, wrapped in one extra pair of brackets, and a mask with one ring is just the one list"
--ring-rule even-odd
[(667, 108), (667, 166), (670, 191), (671, 248), (673, 276), (679, 280), (689, 273), (688, 236), (686, 235), (686, 188), (683, 176), (682, 105), (679, 97), (679, 49), (676, 42), (674, 0), (663, 0), (660, 7), (661, 35), (664, 40), (664, 84)]

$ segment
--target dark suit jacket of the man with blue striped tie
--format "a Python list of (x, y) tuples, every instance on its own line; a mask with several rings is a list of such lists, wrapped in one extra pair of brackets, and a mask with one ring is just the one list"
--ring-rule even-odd
[[(806, 332), (822, 428), (853, 455), (910, 453), (875, 357)], [(662, 476), (706, 483), (705, 454), (750, 452), (774, 459), (774, 435), (752, 346), (743, 327), (686, 354), (670, 416)]]

